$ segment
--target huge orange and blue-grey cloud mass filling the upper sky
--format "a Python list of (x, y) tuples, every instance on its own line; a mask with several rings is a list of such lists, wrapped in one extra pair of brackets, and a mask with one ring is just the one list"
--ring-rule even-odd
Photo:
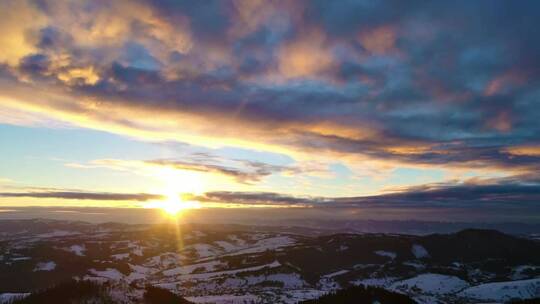
[[(538, 155), (508, 152), (540, 142), (535, 2), (1, 6), (0, 113), (24, 112), (7, 123), (394, 167), (538, 169)], [(248, 183), (281, 170), (176, 165)]]

